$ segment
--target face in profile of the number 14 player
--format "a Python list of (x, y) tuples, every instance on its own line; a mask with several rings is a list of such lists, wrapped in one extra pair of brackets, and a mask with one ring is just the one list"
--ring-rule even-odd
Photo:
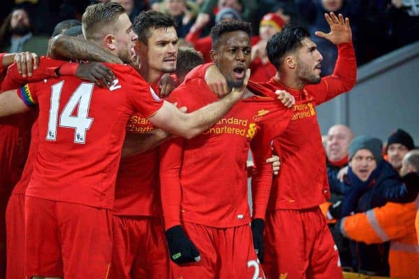
[(119, 18), (114, 25), (114, 29), (117, 56), (124, 61), (124, 63), (131, 63), (135, 56), (134, 45), (138, 36), (133, 31), (131, 21), (126, 13), (119, 15)]

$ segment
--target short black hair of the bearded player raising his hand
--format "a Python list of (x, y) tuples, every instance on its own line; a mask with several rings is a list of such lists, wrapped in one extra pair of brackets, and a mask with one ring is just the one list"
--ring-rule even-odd
[(274, 34), (266, 44), (267, 58), (275, 68), (284, 62), (285, 55), (301, 47), (301, 41), (310, 38), (310, 33), (304, 27), (287, 25), (281, 32)]

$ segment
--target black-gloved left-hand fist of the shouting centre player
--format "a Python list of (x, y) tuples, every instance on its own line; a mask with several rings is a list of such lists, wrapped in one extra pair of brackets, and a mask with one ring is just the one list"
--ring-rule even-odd
[(200, 261), (198, 249), (192, 243), (191, 239), (186, 236), (180, 225), (170, 227), (166, 231), (166, 239), (168, 241), (170, 259), (175, 264)]

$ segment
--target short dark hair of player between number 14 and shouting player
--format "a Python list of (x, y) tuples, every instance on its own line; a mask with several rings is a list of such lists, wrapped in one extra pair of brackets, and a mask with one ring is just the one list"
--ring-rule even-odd
[(145, 44), (152, 36), (151, 29), (168, 27), (177, 27), (173, 17), (155, 10), (142, 11), (135, 17), (133, 23), (133, 30), (138, 35), (138, 40)]

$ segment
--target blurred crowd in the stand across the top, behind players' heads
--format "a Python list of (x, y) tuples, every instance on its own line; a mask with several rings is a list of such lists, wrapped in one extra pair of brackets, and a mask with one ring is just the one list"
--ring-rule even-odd
[[(398, 47), (419, 39), (419, 3), (414, 0), (113, 0), (126, 9), (131, 20), (141, 10), (154, 9), (168, 13), (175, 18), (177, 34), (186, 44), (196, 47), (206, 56), (205, 40), (211, 27), (224, 17), (242, 18), (251, 22), (253, 45), (258, 49), (266, 44), (267, 36), (260, 30), (260, 22), (267, 13), (277, 16), (279, 30), (288, 23), (302, 24), (307, 27), (323, 53), (322, 74), (332, 73), (337, 50), (332, 44), (314, 35), (314, 31), (328, 29), (323, 19), (326, 12), (342, 13), (351, 19), (353, 43), (357, 54), (358, 66), (381, 56)], [(10, 43), (13, 32), (27, 35), (33, 32), (31, 48), (27, 50), (45, 54), (47, 37), (52, 34), (55, 24), (62, 20), (80, 20), (89, 0), (8, 0), (0, 11), (3, 25), (0, 28), (0, 49), (18, 50), (19, 42)], [(13, 15), (16, 8), (24, 8), (28, 19), (25, 27), (13, 27), (13, 21), (20, 22), (24, 15)], [(17, 13), (17, 12), (15, 12)], [(20, 14), (24, 12), (18, 12)], [(14, 18), (15, 17), (15, 18)], [(20, 18), (17, 18), (20, 17)], [(12, 25), (11, 25), (12, 24)], [(276, 30), (278, 31), (278, 30)], [(269, 36), (269, 34), (268, 34)], [(208, 38), (209, 39), (209, 38)], [(22, 42), (21, 42), (22, 44)], [(208, 43), (207, 43), (208, 44)], [(33, 47), (32, 47), (33, 46)], [(38, 47), (39, 46), (39, 47)], [(268, 64), (264, 51), (256, 52), (254, 63)], [(260, 59), (260, 61), (258, 60)], [(272, 73), (272, 67), (265, 67)]]

